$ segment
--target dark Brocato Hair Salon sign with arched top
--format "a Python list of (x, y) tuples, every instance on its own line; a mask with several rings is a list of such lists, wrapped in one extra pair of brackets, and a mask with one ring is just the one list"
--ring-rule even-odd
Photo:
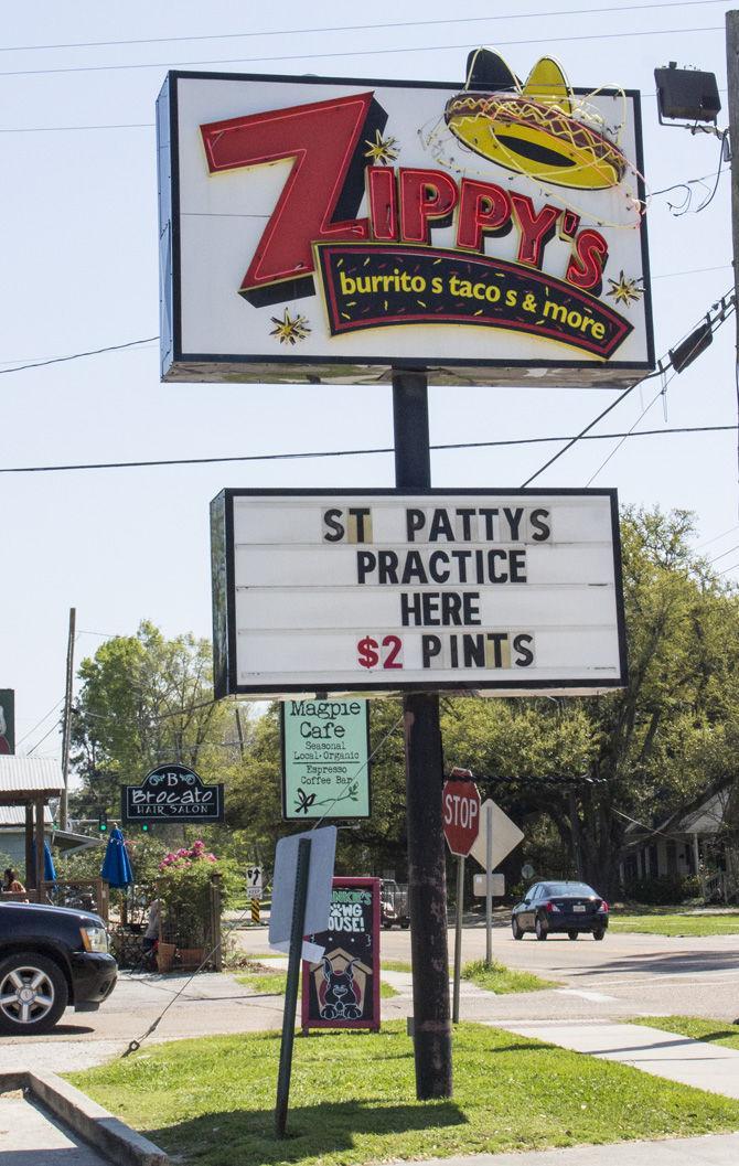
[(140, 786), (121, 787), (124, 822), (223, 822), (224, 787), (185, 765), (159, 765)]

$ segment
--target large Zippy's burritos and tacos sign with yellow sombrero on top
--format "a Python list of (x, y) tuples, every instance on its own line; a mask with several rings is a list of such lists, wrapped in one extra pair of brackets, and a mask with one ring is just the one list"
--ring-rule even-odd
[(464, 83), (170, 72), (163, 379), (643, 375), (639, 94), (543, 64), (526, 86), (474, 65)]

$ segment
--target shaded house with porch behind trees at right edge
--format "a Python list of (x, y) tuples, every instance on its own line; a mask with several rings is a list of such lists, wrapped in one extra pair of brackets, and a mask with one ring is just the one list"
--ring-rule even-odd
[(695, 874), (706, 901), (739, 899), (739, 784), (716, 782), (653, 828), (629, 824), (620, 874), (624, 887)]

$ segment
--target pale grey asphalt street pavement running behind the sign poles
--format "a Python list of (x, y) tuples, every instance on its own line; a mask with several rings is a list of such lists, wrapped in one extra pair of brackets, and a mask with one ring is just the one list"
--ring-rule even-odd
[[(252, 954), (268, 951), (267, 928), (237, 933)], [(450, 960), (453, 932), (449, 934)], [(382, 933), (382, 955), (410, 960), (408, 932)], [(463, 960), (485, 955), (485, 929), (464, 930)], [(534, 971), (557, 982), (542, 992), (492, 996), (465, 985), (463, 1019), (478, 1020), (621, 1020), (632, 1016), (685, 1013), (733, 1020), (739, 1017), (739, 935), (668, 939), (659, 935), (610, 934), (601, 943), (590, 936), (571, 942), (550, 936), (546, 943), (527, 936), (515, 942), (507, 927), (493, 929), (493, 957), (511, 968)], [(400, 995), (382, 1000), (387, 1019), (411, 1013), (410, 978), (393, 977)], [(180, 989), (182, 995), (177, 997)], [(282, 997), (255, 996), (231, 976), (129, 976), (124, 974), (99, 1012), (76, 1016), (48, 1037), (0, 1038), (0, 1072), (22, 1061), (64, 1070), (120, 1054), (141, 1039), (170, 1005), (149, 1041), (211, 1033), (277, 1028)]]

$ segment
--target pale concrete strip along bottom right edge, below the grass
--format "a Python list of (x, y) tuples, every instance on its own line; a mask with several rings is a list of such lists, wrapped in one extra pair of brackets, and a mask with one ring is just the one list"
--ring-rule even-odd
[[(414, 1166), (736, 1166), (738, 1161), (739, 1133), (712, 1133), (703, 1138), (667, 1138), (663, 1142), (619, 1142), (617, 1145), (572, 1146), (569, 1150), (429, 1158), (414, 1163)], [(394, 1161), (386, 1166), (408, 1166), (408, 1163)]]

